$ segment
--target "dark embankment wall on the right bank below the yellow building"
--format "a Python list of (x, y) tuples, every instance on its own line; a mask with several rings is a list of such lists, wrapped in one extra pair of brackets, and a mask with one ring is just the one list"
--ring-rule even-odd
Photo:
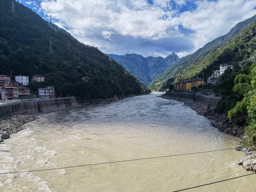
[(173, 100), (179, 100), (182, 102), (194, 102), (200, 104), (206, 110), (212, 110), (216, 107), (220, 98), (210, 97), (196, 93), (178, 93), (178, 92), (166, 92), (166, 95)]

